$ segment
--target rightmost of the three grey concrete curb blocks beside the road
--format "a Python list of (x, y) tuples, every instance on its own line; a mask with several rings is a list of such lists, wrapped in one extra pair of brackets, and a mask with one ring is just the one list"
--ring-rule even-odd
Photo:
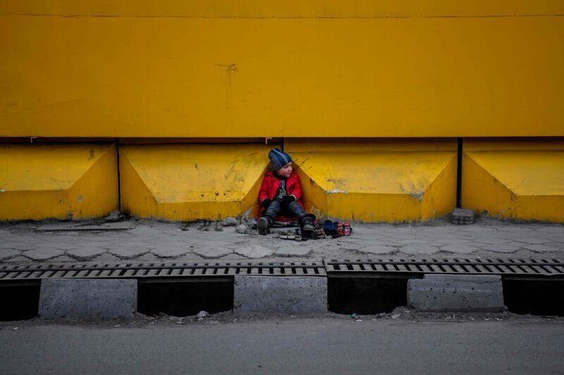
[(426, 274), (407, 281), (407, 305), (430, 312), (505, 310), (498, 275)]

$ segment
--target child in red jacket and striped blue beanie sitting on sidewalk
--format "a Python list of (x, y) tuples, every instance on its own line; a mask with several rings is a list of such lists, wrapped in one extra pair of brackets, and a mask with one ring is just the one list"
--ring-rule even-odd
[(269, 152), (271, 172), (266, 172), (259, 192), (261, 216), (257, 221), (259, 234), (268, 233), (274, 218), (298, 217), (302, 231), (314, 231), (313, 215), (307, 215), (302, 203), (300, 178), (292, 167), (292, 158), (284, 151), (273, 148)]

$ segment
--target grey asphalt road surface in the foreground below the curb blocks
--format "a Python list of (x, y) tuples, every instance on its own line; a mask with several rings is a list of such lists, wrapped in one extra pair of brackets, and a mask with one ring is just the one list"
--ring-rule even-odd
[(563, 322), (4, 325), (0, 374), (562, 374)]

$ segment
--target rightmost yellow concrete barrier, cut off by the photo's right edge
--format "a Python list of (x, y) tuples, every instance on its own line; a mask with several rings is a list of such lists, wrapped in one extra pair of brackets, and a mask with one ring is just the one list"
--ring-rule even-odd
[(464, 142), (462, 206), (502, 219), (564, 222), (564, 141)]

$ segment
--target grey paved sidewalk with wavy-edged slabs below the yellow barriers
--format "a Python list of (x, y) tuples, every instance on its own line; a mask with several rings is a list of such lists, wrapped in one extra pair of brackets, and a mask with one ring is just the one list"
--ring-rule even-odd
[[(128, 220), (82, 230), (77, 223), (0, 224), (0, 262), (197, 262), (369, 258), (560, 258), (564, 225), (479, 219), (425, 224), (357, 224), (353, 235), (290, 241), (239, 234), (235, 227)], [(84, 224), (84, 223), (80, 223)], [(207, 229), (207, 230), (206, 230)]]

